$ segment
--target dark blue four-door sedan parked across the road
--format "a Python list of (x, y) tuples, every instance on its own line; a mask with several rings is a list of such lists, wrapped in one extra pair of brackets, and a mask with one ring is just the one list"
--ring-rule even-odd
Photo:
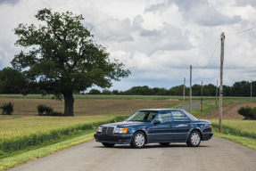
[(211, 136), (211, 122), (194, 118), (186, 110), (148, 109), (136, 111), (124, 122), (98, 126), (95, 140), (105, 147), (130, 144), (143, 148), (146, 143), (168, 146), (170, 142), (197, 147)]

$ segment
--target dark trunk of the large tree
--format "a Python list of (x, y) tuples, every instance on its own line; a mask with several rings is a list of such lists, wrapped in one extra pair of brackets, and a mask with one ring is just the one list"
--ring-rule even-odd
[(65, 101), (65, 117), (74, 117), (74, 97), (73, 92), (65, 92), (63, 93), (64, 101)]

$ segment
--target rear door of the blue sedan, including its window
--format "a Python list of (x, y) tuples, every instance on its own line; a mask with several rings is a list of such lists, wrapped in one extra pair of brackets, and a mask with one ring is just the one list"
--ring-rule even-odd
[(171, 111), (171, 116), (173, 126), (175, 127), (175, 142), (186, 142), (187, 136), (192, 127), (189, 118), (187, 118), (186, 115), (180, 110)]

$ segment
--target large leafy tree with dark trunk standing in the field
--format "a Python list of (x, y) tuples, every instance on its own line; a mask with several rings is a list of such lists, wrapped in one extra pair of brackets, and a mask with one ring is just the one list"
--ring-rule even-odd
[(14, 29), (19, 37), (15, 45), (27, 51), (15, 55), (12, 66), (20, 69), (29, 82), (37, 83), (47, 94), (64, 98), (65, 116), (73, 116), (73, 92), (98, 85), (110, 87), (111, 80), (128, 77), (130, 71), (119, 61), (110, 61), (109, 53), (97, 45), (93, 35), (81, 23), (84, 18), (72, 12), (39, 10), (42, 25), (20, 24)]

